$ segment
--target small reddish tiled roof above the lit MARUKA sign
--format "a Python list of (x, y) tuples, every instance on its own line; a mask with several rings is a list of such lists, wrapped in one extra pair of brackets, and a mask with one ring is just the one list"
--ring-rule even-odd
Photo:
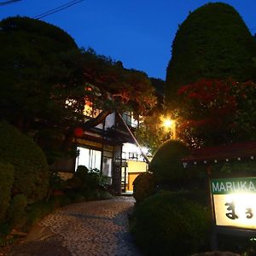
[(247, 143), (230, 143), (217, 147), (192, 149), (183, 162), (207, 162), (218, 160), (244, 160), (256, 158), (256, 141)]

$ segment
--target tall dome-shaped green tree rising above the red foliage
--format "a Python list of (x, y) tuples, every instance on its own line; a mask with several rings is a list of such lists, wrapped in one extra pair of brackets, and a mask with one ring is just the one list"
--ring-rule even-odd
[(198, 79), (255, 81), (256, 41), (241, 16), (225, 3), (207, 3), (177, 30), (166, 72), (166, 102), (181, 85)]

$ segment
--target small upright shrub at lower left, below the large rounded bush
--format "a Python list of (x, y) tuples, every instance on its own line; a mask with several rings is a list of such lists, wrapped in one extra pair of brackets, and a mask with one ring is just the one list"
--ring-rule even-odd
[(9, 223), (14, 228), (21, 228), (26, 224), (26, 196), (22, 194), (15, 195), (10, 202)]

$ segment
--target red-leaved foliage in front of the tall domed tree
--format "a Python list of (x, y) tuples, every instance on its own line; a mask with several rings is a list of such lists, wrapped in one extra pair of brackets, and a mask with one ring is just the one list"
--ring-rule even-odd
[(254, 139), (255, 93), (253, 82), (231, 79), (183, 85), (177, 91), (180, 137), (194, 146)]

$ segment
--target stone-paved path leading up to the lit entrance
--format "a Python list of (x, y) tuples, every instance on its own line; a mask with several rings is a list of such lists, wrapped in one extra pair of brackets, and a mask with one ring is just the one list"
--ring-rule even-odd
[(128, 232), (133, 205), (133, 198), (117, 197), (62, 207), (39, 224), (41, 238), (24, 242), (9, 255), (139, 256)]

